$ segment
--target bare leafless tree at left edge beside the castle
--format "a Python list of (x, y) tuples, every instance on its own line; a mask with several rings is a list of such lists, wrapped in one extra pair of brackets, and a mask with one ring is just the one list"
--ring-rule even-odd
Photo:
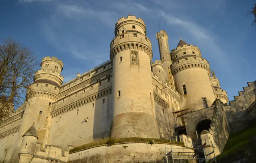
[(37, 65), (37, 57), (29, 48), (11, 38), (1, 40), (0, 120), (24, 102)]

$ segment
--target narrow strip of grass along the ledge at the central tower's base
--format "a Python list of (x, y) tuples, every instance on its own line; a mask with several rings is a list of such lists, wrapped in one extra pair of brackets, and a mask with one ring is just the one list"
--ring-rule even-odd
[[(149, 143), (149, 144), (154, 144), (154, 143), (170, 143), (169, 139), (152, 139), (152, 138), (119, 138), (119, 139), (114, 139), (114, 138), (109, 138), (109, 139), (101, 139), (98, 141), (94, 141), (88, 144), (84, 144), (84, 145), (80, 145), (78, 147), (75, 147), (73, 149), (70, 149), (70, 153), (76, 152), (76, 151), (80, 151), (80, 150), (84, 150), (86, 148), (91, 148), (91, 147), (95, 147), (98, 145), (114, 145), (114, 144), (122, 144), (122, 143), (126, 143), (126, 142), (143, 142), (143, 143)], [(183, 145), (183, 142), (175, 142), (172, 141), (171, 143), (175, 144), (175, 145)]]

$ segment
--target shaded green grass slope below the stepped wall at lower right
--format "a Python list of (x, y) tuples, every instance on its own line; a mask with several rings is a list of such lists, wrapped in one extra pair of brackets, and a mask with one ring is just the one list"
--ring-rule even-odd
[(229, 140), (222, 154), (217, 156), (216, 160), (226, 160), (237, 156), (239, 152), (243, 153), (249, 148), (249, 139), (253, 136), (256, 136), (256, 126), (229, 136)]

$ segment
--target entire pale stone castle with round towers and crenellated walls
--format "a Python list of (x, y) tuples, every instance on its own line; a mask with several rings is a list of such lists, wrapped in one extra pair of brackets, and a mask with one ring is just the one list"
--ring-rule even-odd
[(180, 148), (187, 151), (204, 142), (210, 151), (213, 143), (217, 155), (229, 134), (255, 119), (256, 82), (228, 105), (226, 91), (197, 46), (180, 39), (170, 53), (168, 34), (160, 30), (161, 60), (153, 63), (141, 18), (120, 18), (114, 33), (110, 60), (64, 84), (63, 62), (42, 59), (27, 102), (0, 122), (1, 162), (157, 162), (164, 154), (165, 145), (157, 143), (154, 149), (133, 143), (127, 149), (98, 146), (69, 152), (108, 137), (172, 139), (183, 142)]

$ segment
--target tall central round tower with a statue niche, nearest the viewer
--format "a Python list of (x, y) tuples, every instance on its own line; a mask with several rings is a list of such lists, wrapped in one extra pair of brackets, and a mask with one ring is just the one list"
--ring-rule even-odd
[(144, 21), (120, 18), (110, 44), (114, 119), (111, 136), (159, 138), (153, 105), (151, 41)]

